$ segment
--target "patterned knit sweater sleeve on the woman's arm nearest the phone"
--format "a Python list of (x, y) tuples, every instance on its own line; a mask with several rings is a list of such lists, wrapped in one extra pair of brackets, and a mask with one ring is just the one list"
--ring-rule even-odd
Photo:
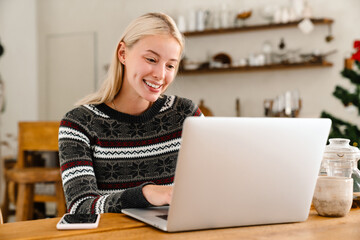
[(149, 207), (140, 186), (115, 193), (97, 187), (89, 133), (66, 117), (59, 128), (59, 159), (63, 188), (70, 213), (120, 213), (123, 208)]

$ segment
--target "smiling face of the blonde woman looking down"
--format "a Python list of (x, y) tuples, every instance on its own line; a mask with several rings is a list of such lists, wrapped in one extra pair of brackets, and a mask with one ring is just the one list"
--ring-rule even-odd
[(170, 35), (146, 36), (131, 48), (120, 43), (118, 57), (125, 66), (121, 91), (155, 102), (174, 80), (180, 52)]

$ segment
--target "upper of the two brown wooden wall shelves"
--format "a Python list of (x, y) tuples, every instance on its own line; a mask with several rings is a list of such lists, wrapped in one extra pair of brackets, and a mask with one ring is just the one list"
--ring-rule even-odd
[[(311, 18), (311, 21), (315, 25), (321, 24), (332, 24), (334, 20), (330, 18)], [(204, 31), (195, 31), (195, 32), (184, 32), (185, 36), (202, 36), (202, 35), (214, 35), (214, 34), (225, 34), (225, 33), (235, 33), (235, 32), (247, 32), (247, 31), (258, 31), (258, 30), (272, 30), (277, 28), (289, 28), (297, 27), (301, 21), (288, 22), (288, 23), (274, 23), (274, 24), (257, 24), (249, 25), (243, 27), (234, 27), (234, 28), (221, 28), (221, 29), (209, 29)]]

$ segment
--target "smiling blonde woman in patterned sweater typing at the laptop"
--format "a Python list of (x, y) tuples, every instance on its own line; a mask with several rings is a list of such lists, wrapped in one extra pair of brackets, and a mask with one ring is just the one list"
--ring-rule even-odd
[(202, 115), (190, 100), (162, 95), (183, 46), (169, 16), (137, 18), (119, 41), (101, 88), (65, 115), (59, 155), (68, 212), (170, 204), (183, 122)]

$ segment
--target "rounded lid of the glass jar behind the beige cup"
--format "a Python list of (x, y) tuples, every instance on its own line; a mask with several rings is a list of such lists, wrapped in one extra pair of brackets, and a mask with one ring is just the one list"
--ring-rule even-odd
[(326, 145), (324, 158), (328, 160), (359, 160), (360, 150), (350, 146), (350, 140), (346, 138), (330, 138), (330, 144)]

